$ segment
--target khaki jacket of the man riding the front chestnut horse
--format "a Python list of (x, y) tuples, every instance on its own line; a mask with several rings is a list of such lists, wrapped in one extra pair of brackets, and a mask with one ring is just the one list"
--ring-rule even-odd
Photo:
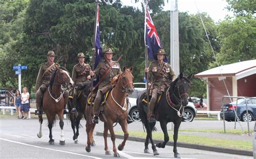
[[(119, 74), (122, 74), (122, 70), (120, 68), (119, 63), (116, 61), (112, 61), (112, 62), (114, 62), (114, 64), (113, 64), (111, 70), (105, 76), (103, 81), (99, 84), (98, 89), (102, 89), (104, 86), (110, 85), (114, 76), (118, 76)], [(104, 76), (106, 70), (110, 67), (112, 62), (110, 62), (110, 63), (107, 63), (107, 61), (99, 62), (99, 64), (97, 65), (97, 67), (95, 69), (95, 76), (96, 76), (95, 78), (99, 78), (99, 80), (100, 80), (102, 78), (102, 76)]]

